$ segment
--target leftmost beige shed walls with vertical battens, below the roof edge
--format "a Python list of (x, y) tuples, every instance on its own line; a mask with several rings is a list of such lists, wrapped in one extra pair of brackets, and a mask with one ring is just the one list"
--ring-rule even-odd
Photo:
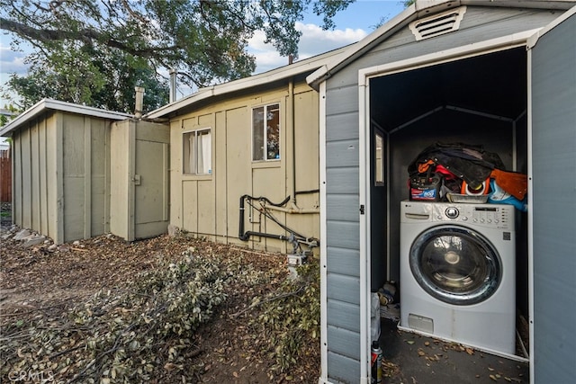
[(58, 244), (103, 234), (110, 121), (50, 112), (14, 132), (14, 222)]

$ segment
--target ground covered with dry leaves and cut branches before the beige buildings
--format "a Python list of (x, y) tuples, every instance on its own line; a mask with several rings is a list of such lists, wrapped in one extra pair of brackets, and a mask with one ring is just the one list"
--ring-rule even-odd
[(1, 241), (2, 380), (318, 380), (317, 338), (302, 339), (287, 373), (271, 353), (275, 331), (255, 326), (269, 308), (254, 303), (286, 291), (283, 255), (184, 236), (108, 235), (51, 250)]

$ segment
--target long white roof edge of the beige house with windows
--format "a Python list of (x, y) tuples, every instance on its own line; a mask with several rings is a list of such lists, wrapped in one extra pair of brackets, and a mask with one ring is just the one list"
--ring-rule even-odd
[(246, 90), (258, 85), (266, 85), (292, 76), (305, 74), (307, 72), (310, 73), (325, 65), (330, 60), (338, 58), (339, 55), (346, 52), (347, 47), (333, 49), (329, 52), (322, 53), (312, 58), (305, 58), (293, 64), (289, 64), (284, 67), (278, 67), (255, 76), (244, 77), (238, 80), (230, 81), (228, 83), (211, 85), (205, 88), (201, 88), (197, 92), (190, 94), (183, 99), (177, 100), (174, 103), (166, 104), (155, 111), (148, 112), (145, 118), (162, 118), (169, 113), (177, 112), (183, 108), (190, 107), (194, 103), (201, 102), (211, 97)]

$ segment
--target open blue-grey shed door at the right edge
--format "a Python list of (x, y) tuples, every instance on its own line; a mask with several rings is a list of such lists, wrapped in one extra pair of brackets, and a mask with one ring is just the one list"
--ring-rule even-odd
[[(576, 15), (540, 37), (532, 49), (534, 382), (576, 377), (574, 41)], [(559, 188), (551, 192), (553, 186)]]

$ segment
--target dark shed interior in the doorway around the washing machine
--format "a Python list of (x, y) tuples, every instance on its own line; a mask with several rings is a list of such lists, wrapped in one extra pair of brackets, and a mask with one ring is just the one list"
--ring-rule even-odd
[[(409, 199), (408, 165), (422, 150), (435, 143), (480, 145), (498, 154), (506, 170), (527, 174), (525, 43), (442, 60), (367, 76), (365, 119), (371, 133), (365, 139), (381, 131), (388, 144), (386, 192), (365, 186), (372, 291), (385, 281), (400, 280), (401, 201)], [(366, 168), (368, 174), (376, 172), (374, 162)], [(516, 305), (518, 315), (528, 318), (527, 213), (517, 210), (515, 215)], [(387, 218), (387, 224), (374, 218)]]

